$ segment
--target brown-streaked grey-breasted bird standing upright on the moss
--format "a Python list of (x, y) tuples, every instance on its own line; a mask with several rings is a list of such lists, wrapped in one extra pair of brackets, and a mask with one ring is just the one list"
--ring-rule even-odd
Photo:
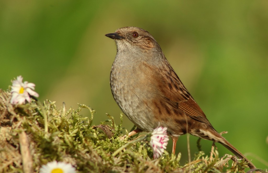
[(105, 36), (115, 40), (117, 46), (110, 72), (112, 95), (137, 127), (129, 136), (167, 127), (174, 154), (178, 137), (189, 133), (221, 143), (245, 159), (250, 168), (256, 168), (214, 129), (149, 32), (128, 26)]

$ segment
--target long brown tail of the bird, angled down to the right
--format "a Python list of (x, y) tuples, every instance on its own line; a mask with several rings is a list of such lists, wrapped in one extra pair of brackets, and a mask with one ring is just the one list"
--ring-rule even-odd
[(212, 140), (218, 143), (221, 143), (224, 147), (226, 147), (228, 150), (230, 150), (233, 154), (235, 154), (240, 159), (245, 159), (246, 162), (248, 162), (248, 166), (251, 169), (255, 169), (256, 167), (254, 164), (250, 162), (240, 151), (238, 151), (232, 144), (230, 144), (224, 137), (222, 137), (213, 127), (208, 127), (205, 130), (199, 129), (198, 134), (193, 134), (195, 136), (201, 137), (203, 139)]

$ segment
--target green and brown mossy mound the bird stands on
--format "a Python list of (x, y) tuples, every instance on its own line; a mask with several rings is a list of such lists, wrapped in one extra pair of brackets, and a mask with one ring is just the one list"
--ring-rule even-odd
[[(202, 151), (191, 163), (179, 164), (177, 156), (165, 152), (152, 159), (152, 150), (146, 141), (137, 142), (115, 157), (112, 154), (128, 143), (120, 140), (120, 124), (113, 117), (100, 125), (92, 125), (94, 110), (79, 104), (77, 110), (57, 108), (55, 102), (43, 104), (32, 99), (25, 105), (10, 104), (11, 94), (0, 89), (0, 172), (38, 172), (53, 160), (72, 164), (77, 172), (243, 172), (245, 163), (235, 156), (218, 158), (217, 150), (211, 155)], [(89, 118), (79, 112), (87, 109)], [(110, 123), (110, 124), (107, 124)], [(232, 166), (228, 161), (233, 160)]]

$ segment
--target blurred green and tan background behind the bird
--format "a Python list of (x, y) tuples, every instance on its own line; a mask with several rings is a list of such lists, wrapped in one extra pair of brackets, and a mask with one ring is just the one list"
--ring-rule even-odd
[[(149, 31), (217, 131), (259, 168), (268, 162), (268, 1), (0, 1), (0, 88), (22, 75), (49, 99), (120, 109), (109, 84), (117, 28)], [(88, 116), (89, 111), (83, 111)], [(129, 131), (133, 124), (123, 117)], [(190, 136), (191, 155), (197, 138)], [(209, 154), (212, 142), (202, 140)], [(168, 151), (171, 152), (172, 142)], [(231, 154), (217, 144), (220, 155)], [(188, 160), (186, 135), (177, 143)], [(266, 165), (265, 165), (266, 163)]]

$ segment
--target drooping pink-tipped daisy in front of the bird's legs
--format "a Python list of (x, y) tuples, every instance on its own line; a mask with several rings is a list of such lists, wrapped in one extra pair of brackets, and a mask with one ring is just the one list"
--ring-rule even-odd
[(150, 145), (154, 153), (154, 159), (159, 158), (168, 145), (168, 132), (166, 127), (157, 127), (152, 132)]

